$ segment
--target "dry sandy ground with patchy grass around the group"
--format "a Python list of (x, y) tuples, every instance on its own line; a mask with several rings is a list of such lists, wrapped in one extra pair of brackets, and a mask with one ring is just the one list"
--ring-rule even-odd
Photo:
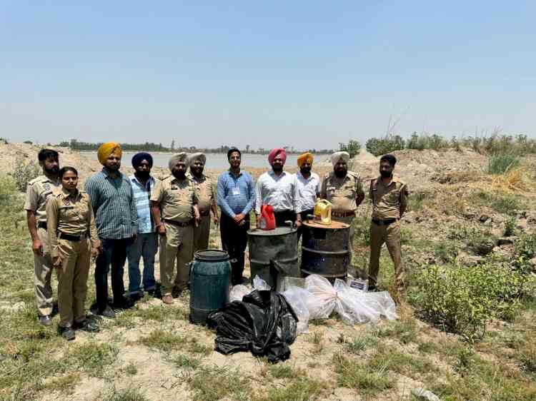
[[(5, 147), (4, 153), (13, 151)], [(34, 157), (34, 147), (19, 147)], [(523, 159), (517, 175), (490, 176), (484, 172), (488, 158), (468, 150), (396, 155), (396, 171), (411, 191), (402, 220), (410, 292), (417, 271), (429, 265), (511, 258), (515, 238), (535, 232), (535, 158)], [(88, 174), (99, 169), (64, 150), (64, 160), (68, 156)], [(363, 152), (352, 168), (367, 180), (377, 163)], [(323, 175), (330, 166), (319, 161), (314, 170)], [(416, 400), (416, 387), (442, 400), (536, 400), (536, 303), (530, 299), (515, 317), (492, 321), (482, 340), (469, 343), (421, 320), (415, 305), (393, 293), (399, 320), (314, 321), (291, 346), (290, 359), (277, 365), (245, 352), (214, 352), (214, 333), (189, 323), (187, 293), (170, 306), (146, 296), (104, 320), (100, 333), (77, 333), (65, 342), (56, 335), (57, 316), (53, 328), (36, 320), (21, 198), (0, 201), (0, 400)], [(357, 273), (367, 266), (369, 214), (365, 202), (356, 219)], [(490, 238), (491, 248), (482, 250)], [(219, 248), (218, 230), (210, 242)], [(381, 263), (379, 286), (392, 290), (386, 250)], [(90, 275), (88, 308), (93, 300)]]

